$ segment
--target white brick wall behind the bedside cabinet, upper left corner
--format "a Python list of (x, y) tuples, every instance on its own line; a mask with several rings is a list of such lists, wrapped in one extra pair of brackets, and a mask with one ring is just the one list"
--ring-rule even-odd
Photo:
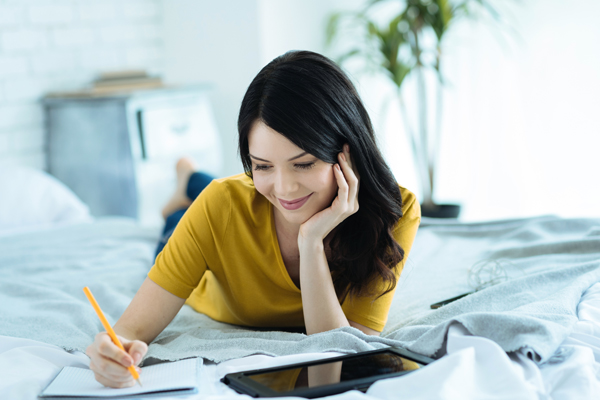
[(40, 98), (99, 72), (164, 70), (160, 0), (0, 0), (0, 164), (45, 168)]

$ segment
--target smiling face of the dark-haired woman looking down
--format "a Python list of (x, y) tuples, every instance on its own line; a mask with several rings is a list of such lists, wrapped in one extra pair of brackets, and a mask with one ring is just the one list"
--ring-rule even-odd
[(319, 160), (261, 121), (248, 135), (256, 190), (287, 222), (301, 225), (329, 207), (338, 190), (333, 164)]

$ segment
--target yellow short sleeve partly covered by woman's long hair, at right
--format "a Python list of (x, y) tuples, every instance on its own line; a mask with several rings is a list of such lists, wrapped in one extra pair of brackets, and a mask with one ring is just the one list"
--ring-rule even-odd
[[(421, 223), (421, 207), (416, 196), (407, 189), (400, 188), (402, 194), (402, 218), (394, 228), (396, 242), (404, 250), (404, 259), (395, 269), (396, 279), (400, 277), (412, 248), (419, 224)], [(375, 282), (375, 290), (382, 292), (386, 289), (384, 282)], [(381, 332), (387, 322), (388, 312), (394, 298), (395, 289), (373, 300), (371, 297), (350, 297), (342, 305), (346, 318), (368, 328)]]

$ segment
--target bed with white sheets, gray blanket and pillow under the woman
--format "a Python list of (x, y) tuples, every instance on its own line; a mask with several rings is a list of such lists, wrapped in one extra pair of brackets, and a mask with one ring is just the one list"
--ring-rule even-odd
[[(22, 201), (3, 195), (0, 204), (13, 207), (0, 214), (0, 398), (35, 399), (63, 366), (88, 366), (83, 351), (101, 327), (82, 287), (114, 323), (152, 265), (159, 231), (93, 219), (59, 182), (17, 172), (17, 186), (0, 173), (4, 188), (30, 199), (21, 217)], [(32, 181), (35, 196), (23, 184)], [(336, 398), (600, 398), (599, 267), (598, 219), (424, 218), (380, 338), (354, 328), (310, 337), (252, 330), (184, 306), (144, 363), (201, 357), (199, 393), (189, 398), (233, 399), (241, 395), (220, 382), (230, 372), (402, 345), (437, 361)]]

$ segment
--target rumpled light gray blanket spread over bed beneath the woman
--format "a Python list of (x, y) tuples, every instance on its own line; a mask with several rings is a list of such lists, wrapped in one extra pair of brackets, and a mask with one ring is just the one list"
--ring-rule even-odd
[[(89, 286), (115, 323), (152, 264), (158, 232), (127, 219), (0, 238), (0, 335), (85, 350), (101, 325)], [(212, 321), (185, 306), (151, 344), (149, 360), (251, 354), (357, 352), (403, 346), (440, 356), (448, 327), (546, 361), (577, 320), (582, 293), (600, 281), (600, 221), (553, 217), (480, 224), (424, 221), (382, 337), (342, 328), (307, 337)], [(437, 311), (429, 304), (472, 291), (469, 270), (500, 265), (505, 282)], [(484, 268), (485, 270), (485, 268)]]

